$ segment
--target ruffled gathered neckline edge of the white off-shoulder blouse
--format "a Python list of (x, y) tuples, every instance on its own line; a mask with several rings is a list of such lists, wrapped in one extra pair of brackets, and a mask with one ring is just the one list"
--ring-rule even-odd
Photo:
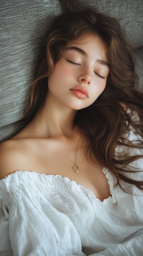
[(60, 188), (60, 190), (68, 189), (68, 191), (70, 190), (71, 192), (72, 191), (75, 192), (76, 190), (78, 190), (79, 192), (82, 192), (83, 194), (88, 196), (90, 199), (92, 198), (94, 200), (99, 201), (100, 203), (104, 203), (106, 201), (112, 201), (112, 203), (115, 203), (116, 197), (114, 195), (115, 191), (114, 191), (114, 184), (113, 184), (114, 183), (113, 176), (105, 167), (103, 167), (102, 171), (105, 174), (106, 178), (108, 179), (108, 184), (109, 184), (110, 192), (112, 195), (108, 198), (105, 198), (103, 201), (98, 199), (90, 189), (85, 188), (81, 184), (77, 184), (76, 181), (70, 180), (68, 177), (62, 177), (59, 174), (56, 174), (56, 175), (44, 174), (44, 173), (37, 173), (35, 171), (20, 170), (20, 171), (15, 171), (15, 173), (9, 174), (8, 176), (0, 180), (0, 184), (4, 183), (4, 185), (8, 189), (11, 184), (16, 185), (20, 183), (23, 184), (23, 183), (29, 183), (29, 182), (35, 182), (36, 184), (36, 183), (42, 182), (45, 185), (47, 185), (47, 182), (48, 182), (48, 186), (50, 184), (51, 187), (55, 186)]

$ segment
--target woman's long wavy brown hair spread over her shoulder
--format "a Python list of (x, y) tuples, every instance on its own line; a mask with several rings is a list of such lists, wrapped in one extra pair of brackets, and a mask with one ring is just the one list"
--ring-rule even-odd
[[(132, 143), (125, 138), (125, 134), (130, 133), (130, 126), (143, 135), (143, 94), (136, 89), (138, 77), (132, 48), (115, 18), (99, 13), (93, 7), (83, 7), (80, 10), (67, 10), (54, 19), (46, 33), (46, 50), (39, 60), (37, 78), (31, 84), (25, 113), (35, 115), (43, 106), (48, 76), (63, 55), (66, 43), (85, 33), (95, 33), (104, 40), (108, 47), (106, 58), (110, 73), (105, 90), (91, 106), (77, 111), (74, 125), (78, 125), (89, 142), (86, 148), (88, 160), (94, 163), (97, 159), (107, 167), (116, 178), (116, 185), (119, 184), (121, 188), (122, 181), (125, 181), (143, 190), (142, 181), (133, 180), (125, 174), (137, 171), (129, 168), (129, 163), (142, 156), (131, 156), (127, 152), (115, 155), (118, 145), (126, 149), (142, 148), (141, 140)], [(120, 103), (128, 106), (130, 114)], [(139, 121), (131, 118), (134, 111)]]

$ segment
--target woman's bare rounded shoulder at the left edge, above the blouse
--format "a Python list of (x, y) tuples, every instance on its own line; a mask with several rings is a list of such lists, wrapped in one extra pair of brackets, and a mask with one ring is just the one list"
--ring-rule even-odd
[(0, 144), (0, 180), (19, 170), (24, 158), (24, 142), (7, 140)]

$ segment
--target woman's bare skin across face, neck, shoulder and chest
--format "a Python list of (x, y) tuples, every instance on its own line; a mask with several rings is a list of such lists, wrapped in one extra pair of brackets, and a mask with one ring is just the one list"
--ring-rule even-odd
[[(82, 49), (86, 56), (71, 47)], [(105, 89), (110, 72), (105, 65), (106, 51), (102, 39), (92, 34), (66, 45), (48, 78), (49, 91), (42, 110), (20, 133), (0, 145), (0, 179), (18, 170), (58, 174), (90, 189), (101, 201), (111, 196), (102, 165), (87, 162), (80, 148), (87, 142), (73, 127), (77, 111), (91, 105)], [(77, 85), (87, 89), (88, 97), (73, 93)], [(76, 149), (78, 174), (72, 169)]]

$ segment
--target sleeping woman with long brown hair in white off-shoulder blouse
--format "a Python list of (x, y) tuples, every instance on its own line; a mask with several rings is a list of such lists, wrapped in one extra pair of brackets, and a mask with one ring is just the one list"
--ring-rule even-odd
[(116, 19), (83, 8), (54, 20), (25, 109), (32, 120), (1, 143), (3, 255), (141, 255), (136, 85)]

